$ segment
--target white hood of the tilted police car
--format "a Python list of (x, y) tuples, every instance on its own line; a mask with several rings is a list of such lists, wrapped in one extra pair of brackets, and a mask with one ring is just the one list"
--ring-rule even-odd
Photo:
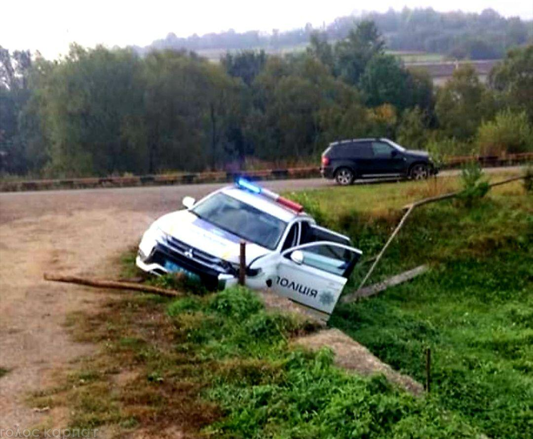
[[(239, 263), (240, 241), (242, 238), (204, 219), (198, 218), (188, 210), (179, 210), (161, 216), (156, 223), (165, 233), (191, 247), (220, 257), (225, 261)], [(253, 242), (247, 242), (246, 264), (252, 262), (256, 257), (271, 251), (268, 248), (253, 244)]]

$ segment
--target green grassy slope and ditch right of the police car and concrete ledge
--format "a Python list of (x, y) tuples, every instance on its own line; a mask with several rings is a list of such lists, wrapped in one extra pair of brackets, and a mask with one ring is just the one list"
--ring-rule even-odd
[[(423, 198), (425, 184), (418, 194), (414, 185), (330, 189), (328, 197), (310, 191), (298, 198), (369, 256), (401, 215), (398, 206)], [(442, 410), (490, 437), (532, 437), (532, 244), (533, 198), (520, 183), (498, 187), (471, 209), (457, 201), (423, 207), (371, 281), (421, 263), (430, 263), (430, 272), (337, 307), (330, 324), (419, 381), (430, 347), (432, 398)], [(347, 292), (367, 269), (363, 264), (354, 273)]]

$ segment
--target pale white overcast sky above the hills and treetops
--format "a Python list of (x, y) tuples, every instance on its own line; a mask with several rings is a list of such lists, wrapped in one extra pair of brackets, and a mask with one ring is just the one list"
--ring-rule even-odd
[(306, 22), (320, 26), (341, 15), (361, 10), (386, 11), (431, 6), (437, 11), (481, 12), (491, 7), (505, 17), (533, 18), (533, 0), (26, 0), (3, 2), (0, 45), (38, 49), (46, 58), (68, 51), (70, 42), (109, 47), (148, 45), (169, 32), (199, 35), (235, 29), (287, 30)]

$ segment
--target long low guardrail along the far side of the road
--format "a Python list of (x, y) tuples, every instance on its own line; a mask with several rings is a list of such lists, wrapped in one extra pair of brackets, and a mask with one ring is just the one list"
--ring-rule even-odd
[[(466, 162), (478, 161), (483, 167), (510, 166), (512, 164), (533, 161), (533, 153), (508, 154), (497, 156), (457, 156), (451, 157), (443, 164), (442, 169), (451, 169)], [(127, 186), (159, 186), (198, 183), (232, 182), (236, 176), (245, 175), (255, 180), (282, 180), (288, 178), (320, 177), (320, 168), (286, 168), (261, 169), (255, 171), (182, 173), (163, 175), (140, 175), (126, 177), (88, 177), (88, 178), (58, 178), (30, 181), (0, 182), (0, 192), (39, 191), (54, 189), (89, 189), (94, 187), (127, 187)]]

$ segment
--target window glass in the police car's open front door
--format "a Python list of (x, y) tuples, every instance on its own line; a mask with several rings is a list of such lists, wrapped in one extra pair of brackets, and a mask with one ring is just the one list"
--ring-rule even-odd
[(317, 244), (301, 249), (303, 264), (337, 276), (343, 276), (353, 260), (350, 250), (329, 244)]

